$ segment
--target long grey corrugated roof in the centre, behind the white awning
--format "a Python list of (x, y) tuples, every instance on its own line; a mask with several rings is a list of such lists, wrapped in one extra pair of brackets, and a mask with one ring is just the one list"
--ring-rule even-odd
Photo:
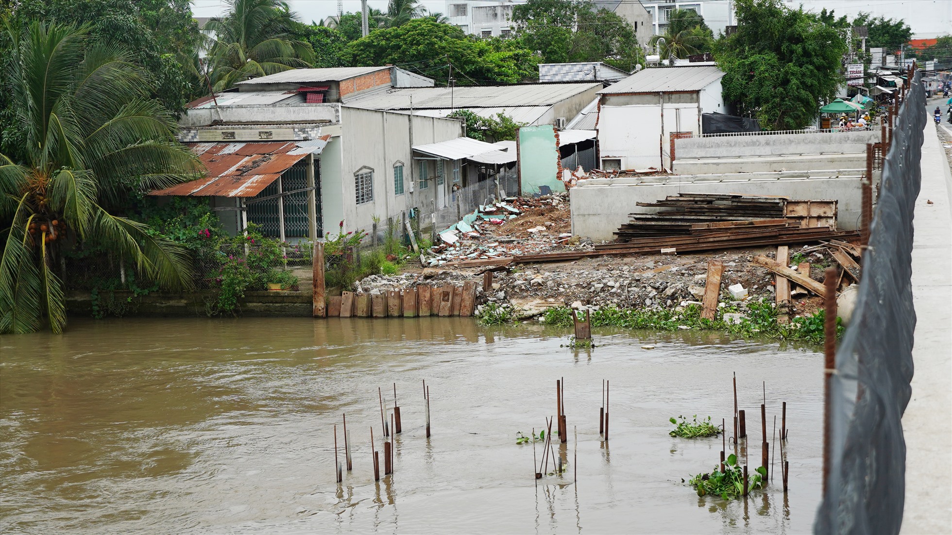
[(600, 83), (513, 86), (401, 87), (356, 95), (347, 105), (370, 109), (478, 108), (554, 105)]

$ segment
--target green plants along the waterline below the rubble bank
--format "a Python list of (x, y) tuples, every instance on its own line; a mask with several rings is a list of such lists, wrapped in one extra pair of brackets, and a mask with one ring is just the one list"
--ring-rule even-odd
[[(806, 317), (794, 317), (790, 323), (778, 323), (777, 307), (764, 299), (746, 303), (746, 310), (739, 309), (730, 301), (724, 301), (717, 309), (713, 320), (701, 317), (701, 307), (687, 305), (674, 309), (620, 309), (609, 305), (591, 313), (592, 327), (623, 327), (626, 329), (703, 329), (722, 331), (744, 336), (766, 336), (788, 340), (807, 340), (823, 343), (823, 311)], [(728, 313), (742, 313), (738, 322), (724, 321)], [(568, 307), (552, 307), (543, 316), (547, 325), (570, 327), (572, 315)], [(843, 334), (840, 318), (837, 318), (837, 336)]]

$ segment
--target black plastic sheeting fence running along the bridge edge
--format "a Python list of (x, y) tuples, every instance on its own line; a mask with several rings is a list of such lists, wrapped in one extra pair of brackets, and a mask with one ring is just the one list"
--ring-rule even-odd
[(902, 412), (912, 389), (913, 208), (922, 182), (925, 91), (917, 72), (883, 162), (863, 281), (831, 381), (829, 473), (815, 533), (899, 533)]

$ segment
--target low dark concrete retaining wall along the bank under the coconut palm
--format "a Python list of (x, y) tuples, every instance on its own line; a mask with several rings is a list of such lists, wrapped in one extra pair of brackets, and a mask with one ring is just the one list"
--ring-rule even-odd
[[(202, 317), (208, 315), (208, 302), (217, 299), (217, 292), (149, 294), (136, 297), (128, 291), (100, 291), (99, 305), (122, 310), (124, 316)], [(310, 317), (310, 292), (246, 292), (239, 301), (239, 315)], [(89, 292), (69, 292), (67, 312), (70, 315), (92, 315)], [(117, 314), (109, 314), (117, 315)]]

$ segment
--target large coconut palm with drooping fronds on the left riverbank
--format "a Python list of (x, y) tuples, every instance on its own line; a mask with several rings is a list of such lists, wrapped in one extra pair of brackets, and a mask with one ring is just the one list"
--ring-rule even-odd
[(87, 27), (33, 22), (7, 27), (4, 80), (27, 130), (22, 161), (0, 154), (0, 333), (66, 325), (54, 266), (88, 241), (107, 244), (141, 277), (166, 288), (190, 283), (187, 253), (147, 225), (109, 213), (130, 189), (194, 178), (195, 157), (177, 126), (148, 100), (147, 72), (129, 54), (90, 44)]

